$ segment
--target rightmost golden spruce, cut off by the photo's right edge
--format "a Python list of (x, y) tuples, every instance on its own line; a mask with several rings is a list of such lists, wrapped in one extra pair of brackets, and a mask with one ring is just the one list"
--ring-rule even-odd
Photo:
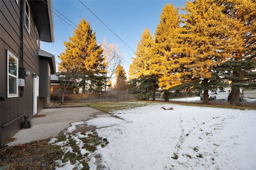
[(229, 44), (226, 51), (230, 57), (218, 68), (220, 75), (230, 81), (232, 88), (231, 105), (240, 105), (240, 88), (256, 87), (256, 2), (255, 0), (217, 1), (227, 18)]

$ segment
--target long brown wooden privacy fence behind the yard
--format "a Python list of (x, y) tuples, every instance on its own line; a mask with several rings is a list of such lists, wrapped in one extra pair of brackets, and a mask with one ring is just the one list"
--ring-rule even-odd
[[(135, 100), (137, 94), (131, 91), (106, 91), (103, 93), (64, 94), (64, 103), (122, 102)], [(61, 94), (51, 94), (51, 102), (61, 102)]]

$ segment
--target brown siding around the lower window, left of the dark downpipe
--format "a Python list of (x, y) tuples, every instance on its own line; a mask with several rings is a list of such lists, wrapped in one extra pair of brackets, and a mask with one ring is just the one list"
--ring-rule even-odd
[[(0, 1), (0, 93), (4, 97), (4, 101), (1, 101), (1, 125), (5, 125), (16, 119), (18, 115), (23, 114), (20, 107), (22, 99), (20, 97), (7, 98), (8, 63), (6, 49), (20, 58), (20, 10), (14, 0)], [(19, 59), (19, 64), (20, 62)], [(20, 129), (21, 122), (20, 119), (1, 128), (1, 144)]]

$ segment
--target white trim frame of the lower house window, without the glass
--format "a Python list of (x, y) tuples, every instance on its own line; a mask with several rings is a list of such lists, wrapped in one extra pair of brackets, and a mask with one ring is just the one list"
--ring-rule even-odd
[[(14, 59), (16, 59), (17, 61), (17, 65), (16, 65), (16, 75), (13, 75), (11, 73), (9, 73), (9, 56), (13, 57)], [(18, 57), (16, 57), (13, 53), (11, 53), (8, 49), (7, 49), (7, 98), (11, 98), (11, 97), (19, 97), (19, 88), (18, 88), (18, 76), (19, 76), (19, 69), (18, 69), (18, 65), (19, 65), (19, 59)], [(9, 76), (13, 77), (16, 79), (16, 93), (15, 94), (10, 94), (10, 89), (9, 89)]]

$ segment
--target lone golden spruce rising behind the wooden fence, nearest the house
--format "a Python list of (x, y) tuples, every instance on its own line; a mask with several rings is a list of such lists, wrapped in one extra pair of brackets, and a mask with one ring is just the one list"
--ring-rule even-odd
[(104, 57), (102, 48), (96, 42), (95, 32), (89, 22), (82, 19), (72, 37), (68, 42), (64, 42), (66, 47), (66, 57), (78, 63), (79, 85), (91, 91), (102, 91), (106, 76)]

